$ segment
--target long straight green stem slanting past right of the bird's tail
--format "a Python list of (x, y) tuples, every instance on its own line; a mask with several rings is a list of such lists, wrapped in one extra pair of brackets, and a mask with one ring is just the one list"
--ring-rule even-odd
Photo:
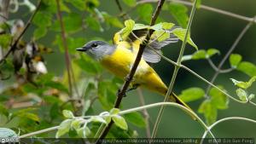
[[(192, 10), (190, 12), (190, 15), (189, 15), (189, 23), (188, 23), (188, 26), (186, 28), (186, 33), (185, 33), (185, 37), (183, 39), (183, 44), (182, 44), (182, 47), (180, 49), (180, 52), (179, 52), (179, 55), (178, 55), (178, 58), (177, 58), (177, 66), (175, 66), (175, 68), (174, 68), (174, 71), (173, 71), (173, 74), (172, 74), (172, 80), (169, 84), (169, 88), (168, 88), (166, 96), (165, 96), (165, 100), (164, 100), (165, 102), (168, 100), (169, 95), (171, 95), (172, 88), (173, 88), (175, 80), (177, 78), (177, 72), (178, 72), (178, 69), (180, 68), (180, 65), (181, 65), (181, 62), (182, 62), (183, 53), (184, 53), (186, 43), (187, 43), (187, 40), (188, 40), (188, 37), (189, 37), (190, 27), (192, 25), (192, 21), (193, 21), (194, 15), (195, 15), (195, 9), (196, 9), (195, 5), (196, 5), (196, 3), (197, 3), (197, 0), (194, 1), (193, 8), (192, 8)], [(158, 130), (158, 126), (160, 124), (160, 119), (162, 118), (164, 109), (165, 109), (164, 106), (160, 107), (160, 112), (159, 112), (159, 114), (156, 118), (151, 138), (154, 138), (156, 136), (156, 132)]]

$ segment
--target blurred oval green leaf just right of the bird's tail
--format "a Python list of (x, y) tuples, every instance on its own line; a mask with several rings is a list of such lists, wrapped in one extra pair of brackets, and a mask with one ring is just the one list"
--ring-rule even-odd
[(205, 91), (201, 88), (192, 87), (184, 89), (179, 98), (184, 102), (196, 101), (201, 99), (205, 95)]

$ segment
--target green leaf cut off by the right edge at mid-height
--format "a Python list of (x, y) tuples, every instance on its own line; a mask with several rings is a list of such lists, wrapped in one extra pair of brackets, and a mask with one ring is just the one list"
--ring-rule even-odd
[(236, 68), (238, 71), (246, 73), (248, 76), (256, 76), (256, 66), (248, 61), (242, 61)]

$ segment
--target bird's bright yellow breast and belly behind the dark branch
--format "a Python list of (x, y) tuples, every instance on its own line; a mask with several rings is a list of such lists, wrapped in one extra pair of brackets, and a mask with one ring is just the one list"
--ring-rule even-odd
[[(119, 78), (125, 78), (127, 76), (136, 59), (136, 55), (131, 53), (130, 49), (126, 49), (125, 44), (119, 43), (112, 55), (107, 55), (100, 60), (102, 66), (108, 69), (108, 71), (113, 72)], [(166, 85), (161, 81), (158, 74), (154, 72), (154, 69), (143, 59), (137, 66), (132, 84), (140, 84), (162, 95), (166, 93)]]

